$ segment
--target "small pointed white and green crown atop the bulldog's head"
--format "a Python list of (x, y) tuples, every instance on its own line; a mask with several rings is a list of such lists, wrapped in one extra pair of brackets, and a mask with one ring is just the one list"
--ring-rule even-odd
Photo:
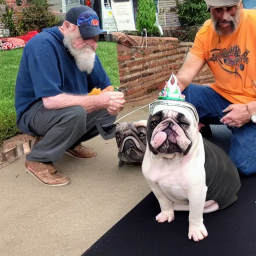
[[(174, 78), (174, 83), (171, 80)], [(159, 92), (158, 99), (185, 100), (185, 95), (180, 92), (177, 77), (172, 73), (169, 80), (165, 82), (164, 88)]]

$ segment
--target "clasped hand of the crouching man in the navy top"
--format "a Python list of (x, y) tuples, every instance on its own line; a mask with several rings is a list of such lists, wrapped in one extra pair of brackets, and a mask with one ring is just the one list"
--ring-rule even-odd
[(120, 91), (106, 91), (99, 94), (101, 103), (109, 114), (116, 115), (122, 110), (125, 103), (124, 95)]

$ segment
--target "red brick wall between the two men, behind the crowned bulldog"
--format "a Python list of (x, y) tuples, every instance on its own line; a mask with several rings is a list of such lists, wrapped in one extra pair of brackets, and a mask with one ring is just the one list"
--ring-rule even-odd
[[(114, 32), (117, 41), (120, 89), (126, 101), (157, 95), (168, 80), (181, 67), (191, 42), (179, 42), (174, 37), (145, 37)], [(193, 82), (205, 84), (214, 81), (208, 66), (205, 65)]]

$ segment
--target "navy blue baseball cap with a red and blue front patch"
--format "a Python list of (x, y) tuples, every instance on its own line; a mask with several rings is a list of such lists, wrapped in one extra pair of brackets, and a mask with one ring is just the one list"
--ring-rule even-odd
[(78, 26), (83, 39), (89, 39), (106, 31), (100, 29), (97, 13), (90, 7), (80, 5), (66, 13), (65, 20)]

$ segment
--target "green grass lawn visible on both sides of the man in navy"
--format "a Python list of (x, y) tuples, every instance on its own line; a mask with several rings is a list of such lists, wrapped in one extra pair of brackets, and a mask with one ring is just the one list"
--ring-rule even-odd
[[(116, 43), (98, 42), (97, 54), (112, 85), (119, 85)], [(0, 51), (0, 141), (19, 131), (16, 129), (14, 89), (22, 49)]]

